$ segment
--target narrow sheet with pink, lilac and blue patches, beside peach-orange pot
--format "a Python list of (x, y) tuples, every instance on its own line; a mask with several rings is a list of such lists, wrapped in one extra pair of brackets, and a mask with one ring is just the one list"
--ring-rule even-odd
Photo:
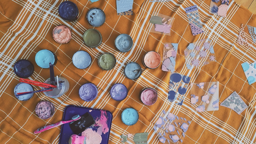
[(174, 72), (178, 43), (164, 43), (162, 70)]

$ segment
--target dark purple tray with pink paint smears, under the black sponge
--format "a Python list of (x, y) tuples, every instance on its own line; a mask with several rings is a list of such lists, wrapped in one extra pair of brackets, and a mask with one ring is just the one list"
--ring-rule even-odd
[[(92, 115), (92, 117), (94, 118), (96, 124), (94, 124), (93, 126), (91, 126), (90, 128), (94, 131), (97, 132), (98, 129), (98, 125), (97, 125), (97, 121), (99, 120), (99, 118), (102, 116), (102, 113), (105, 114), (105, 117), (107, 118), (106, 124), (109, 128), (109, 130), (107, 132), (102, 132), (101, 138), (101, 144), (106, 144), (109, 142), (109, 135), (110, 135), (110, 128), (111, 128), (111, 124), (112, 124), (112, 118), (113, 115), (111, 112), (107, 111), (107, 110), (101, 110), (101, 109), (94, 109), (94, 108), (87, 108), (87, 107), (80, 107), (80, 106), (74, 106), (74, 105), (68, 105), (65, 110), (64, 110), (64, 114), (63, 114), (63, 120), (70, 120), (74, 115), (83, 115), (85, 113), (90, 113)], [(61, 132), (60, 132), (60, 144), (68, 144), (69, 138), (71, 135), (73, 135), (74, 132), (71, 130), (69, 123), (67, 124), (63, 124), (61, 126)], [(81, 136), (81, 134), (79, 134), (79, 136)]]

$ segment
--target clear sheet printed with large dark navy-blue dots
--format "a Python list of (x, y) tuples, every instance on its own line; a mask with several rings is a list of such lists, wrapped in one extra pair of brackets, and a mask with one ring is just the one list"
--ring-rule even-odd
[(190, 79), (191, 78), (189, 76), (171, 72), (169, 80), (170, 91), (168, 92), (168, 100), (171, 102), (176, 100), (175, 104), (182, 105)]

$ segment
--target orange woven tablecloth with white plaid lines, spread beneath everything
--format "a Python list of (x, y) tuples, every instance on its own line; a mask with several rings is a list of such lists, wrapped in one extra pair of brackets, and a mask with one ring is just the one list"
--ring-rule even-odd
[[(160, 143), (153, 127), (162, 110), (191, 119), (183, 143), (256, 143), (256, 83), (248, 84), (241, 67), (245, 61), (256, 61), (255, 44), (246, 29), (252, 49), (236, 42), (241, 24), (255, 27), (256, 15), (234, 1), (230, 1), (226, 18), (209, 13), (210, 0), (155, 3), (134, 0), (132, 16), (118, 16), (114, 0), (100, 0), (93, 4), (87, 0), (71, 1), (79, 8), (79, 18), (74, 22), (66, 22), (59, 17), (58, 6), (62, 1), (0, 1), (0, 143), (58, 143), (61, 127), (36, 135), (33, 131), (62, 120), (67, 105), (112, 112), (109, 143), (121, 143), (120, 135), (138, 132), (149, 133), (148, 143)], [(192, 5), (197, 5), (205, 31), (196, 36), (192, 36), (184, 11), (184, 8)], [(94, 27), (102, 34), (102, 44), (97, 48), (88, 48), (82, 35), (92, 28), (86, 20), (86, 14), (93, 7), (104, 10), (106, 21), (102, 26)], [(154, 12), (175, 18), (170, 36), (149, 32), (149, 20)], [(71, 28), (72, 39), (67, 44), (59, 44), (52, 38), (52, 30), (57, 25)], [(117, 51), (114, 46), (114, 39), (122, 33), (129, 34), (134, 42), (132, 50), (126, 53)], [(189, 43), (204, 38), (213, 41), (217, 61), (188, 70), (184, 50)], [(219, 103), (236, 91), (248, 108), (240, 115), (223, 106), (218, 111), (195, 113), (190, 108), (190, 89), (185, 94), (182, 106), (168, 101), (170, 72), (162, 71), (161, 66), (154, 70), (147, 69), (142, 64), (147, 51), (154, 50), (162, 56), (165, 42), (179, 44), (175, 67), (177, 73), (189, 75), (192, 83), (219, 81)], [(14, 63), (20, 59), (31, 61), (35, 71), (29, 78), (43, 82), (49, 78), (49, 69), (42, 69), (35, 63), (35, 55), (41, 49), (56, 53), (58, 61), (55, 74), (67, 78), (70, 89), (56, 99), (36, 93), (28, 101), (19, 101), (13, 92), (19, 83), (19, 77), (13, 71)], [(81, 70), (72, 64), (72, 56), (78, 50), (85, 50), (92, 56), (93, 62), (89, 68)], [(97, 61), (103, 52), (113, 53), (116, 57), (114, 69), (103, 71), (99, 68)], [(124, 66), (132, 61), (140, 64), (143, 70), (137, 80), (127, 79), (123, 72)], [(84, 102), (78, 94), (80, 86), (87, 82), (94, 83), (99, 90), (97, 98), (91, 102)], [(110, 88), (115, 83), (123, 83), (129, 91), (127, 98), (121, 102), (110, 97)], [(144, 87), (155, 88), (158, 93), (158, 100), (153, 106), (143, 105), (139, 100), (139, 93)], [(55, 106), (55, 114), (49, 119), (40, 119), (35, 114), (35, 106), (42, 100), (48, 100)], [(121, 113), (127, 107), (133, 107), (139, 113), (139, 120), (133, 126), (124, 125), (121, 121)]]

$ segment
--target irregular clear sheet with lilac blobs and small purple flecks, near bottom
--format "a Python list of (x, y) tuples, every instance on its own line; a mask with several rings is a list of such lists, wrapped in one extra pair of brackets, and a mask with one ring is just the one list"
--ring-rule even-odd
[(163, 110), (154, 126), (154, 130), (159, 135), (159, 140), (162, 143), (182, 143), (190, 122), (190, 119), (178, 117)]

